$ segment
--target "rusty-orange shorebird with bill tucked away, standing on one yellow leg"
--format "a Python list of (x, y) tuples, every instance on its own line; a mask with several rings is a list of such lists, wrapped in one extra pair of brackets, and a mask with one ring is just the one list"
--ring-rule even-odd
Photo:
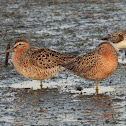
[(87, 80), (99, 81), (112, 75), (118, 64), (118, 55), (115, 48), (107, 42), (99, 44), (96, 50), (78, 56), (62, 66), (76, 75)]

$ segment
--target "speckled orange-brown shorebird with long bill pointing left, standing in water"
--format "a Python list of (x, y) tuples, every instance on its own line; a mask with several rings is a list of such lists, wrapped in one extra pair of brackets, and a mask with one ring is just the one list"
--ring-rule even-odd
[(51, 78), (61, 71), (60, 64), (74, 58), (50, 49), (30, 47), (25, 40), (16, 41), (13, 48), (0, 55), (13, 51), (12, 60), (17, 72), (26, 78), (40, 80), (41, 87), (43, 79)]

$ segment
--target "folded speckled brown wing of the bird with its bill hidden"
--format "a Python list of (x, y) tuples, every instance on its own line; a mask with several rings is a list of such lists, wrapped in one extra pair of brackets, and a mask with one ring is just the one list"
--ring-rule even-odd
[(89, 72), (97, 63), (98, 55), (96, 55), (96, 53), (97, 52), (94, 51), (83, 56), (78, 56), (74, 60), (70, 61), (69, 63), (63, 64), (62, 66), (78, 76), (81, 76), (82, 73), (84, 75)]

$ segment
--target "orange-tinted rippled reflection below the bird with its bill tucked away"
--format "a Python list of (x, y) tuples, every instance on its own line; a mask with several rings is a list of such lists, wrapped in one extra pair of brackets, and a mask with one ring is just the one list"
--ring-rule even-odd
[[(90, 102), (85, 109), (84, 107), (84, 116), (88, 118), (87, 123), (102, 123), (105, 124), (107, 122), (116, 124), (116, 118), (119, 116), (119, 113), (114, 110), (112, 97), (99, 94), (87, 96), (87, 103)], [(83, 100), (83, 98), (81, 98)]]

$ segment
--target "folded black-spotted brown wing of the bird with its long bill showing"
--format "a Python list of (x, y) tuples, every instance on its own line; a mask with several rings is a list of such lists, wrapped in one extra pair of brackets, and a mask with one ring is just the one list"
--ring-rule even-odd
[[(73, 59), (73, 56), (63, 55), (59, 52), (50, 49), (31, 48), (25, 57), (28, 57), (29, 63), (37, 67), (47, 69), (59, 66), (60, 64), (66, 63)], [(29, 57), (30, 56), (30, 57)]]

